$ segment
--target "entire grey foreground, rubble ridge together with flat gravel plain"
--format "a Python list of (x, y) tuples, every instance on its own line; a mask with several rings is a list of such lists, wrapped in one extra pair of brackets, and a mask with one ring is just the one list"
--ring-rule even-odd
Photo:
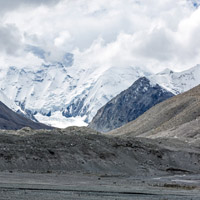
[(85, 127), (0, 132), (2, 199), (199, 199), (199, 140)]

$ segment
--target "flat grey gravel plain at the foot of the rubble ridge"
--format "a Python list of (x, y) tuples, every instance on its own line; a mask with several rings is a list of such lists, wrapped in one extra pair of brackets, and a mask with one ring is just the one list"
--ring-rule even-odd
[(199, 200), (200, 175), (151, 177), (0, 173), (1, 200)]

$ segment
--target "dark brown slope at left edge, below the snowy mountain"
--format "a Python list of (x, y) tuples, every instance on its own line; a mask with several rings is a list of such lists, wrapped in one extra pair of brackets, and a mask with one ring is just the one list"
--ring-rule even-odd
[(30, 127), (32, 129), (51, 129), (51, 127), (45, 124), (33, 122), (32, 120), (13, 112), (0, 102), (0, 129), (17, 130), (23, 127)]

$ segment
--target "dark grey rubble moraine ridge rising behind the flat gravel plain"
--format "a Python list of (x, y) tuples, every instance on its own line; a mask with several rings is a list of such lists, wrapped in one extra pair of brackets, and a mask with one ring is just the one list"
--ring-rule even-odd
[(88, 128), (1, 131), (0, 170), (134, 176), (200, 172), (198, 143), (109, 136)]

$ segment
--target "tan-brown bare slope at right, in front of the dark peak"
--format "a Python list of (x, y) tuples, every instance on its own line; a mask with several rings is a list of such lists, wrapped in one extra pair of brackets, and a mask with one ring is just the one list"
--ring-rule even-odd
[[(183, 126), (190, 125), (191, 127), (192, 124), (195, 124), (196, 128), (194, 128), (193, 133), (196, 133), (196, 137), (199, 137), (199, 117), (200, 85), (152, 107), (136, 120), (111, 131), (110, 134), (151, 136), (173, 129), (180, 132)], [(186, 128), (185, 131), (187, 131)], [(180, 134), (181, 132), (179, 136)], [(182, 132), (182, 134), (187, 135), (185, 132)]]

